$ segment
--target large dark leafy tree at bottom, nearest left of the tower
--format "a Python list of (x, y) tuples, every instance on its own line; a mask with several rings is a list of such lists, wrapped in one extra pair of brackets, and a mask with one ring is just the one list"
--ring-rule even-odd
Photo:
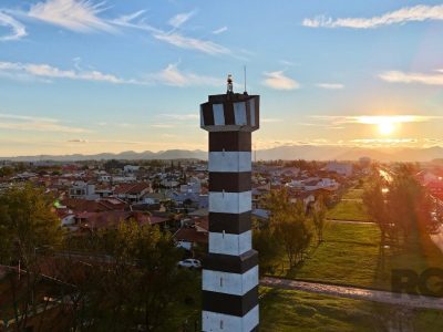
[[(176, 331), (177, 307), (198, 283), (176, 262), (182, 252), (169, 234), (154, 226), (122, 222), (94, 238), (97, 252), (87, 278), (76, 281), (83, 299), (72, 322), (85, 331)], [(103, 256), (105, 255), (105, 256)], [(78, 297), (80, 292), (75, 295)], [(196, 299), (193, 298), (193, 301)], [(84, 328), (84, 326), (87, 328)], [(82, 329), (82, 331), (83, 331)]]

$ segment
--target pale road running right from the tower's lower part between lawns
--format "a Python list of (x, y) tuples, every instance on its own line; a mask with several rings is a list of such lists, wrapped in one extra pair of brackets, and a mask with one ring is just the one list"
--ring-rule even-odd
[(260, 284), (289, 290), (301, 290), (324, 295), (404, 305), (409, 308), (427, 308), (443, 310), (443, 298), (436, 299), (431, 297), (396, 294), (388, 291), (368, 290), (356, 287), (323, 284), (269, 277), (262, 278), (260, 280)]

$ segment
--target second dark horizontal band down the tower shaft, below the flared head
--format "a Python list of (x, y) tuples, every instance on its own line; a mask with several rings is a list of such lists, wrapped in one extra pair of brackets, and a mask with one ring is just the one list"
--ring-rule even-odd
[(210, 172), (209, 191), (244, 193), (251, 189), (250, 172)]

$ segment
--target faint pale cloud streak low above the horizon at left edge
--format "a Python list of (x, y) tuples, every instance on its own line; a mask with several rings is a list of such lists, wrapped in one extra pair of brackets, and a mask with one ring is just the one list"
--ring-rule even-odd
[(0, 113), (0, 129), (28, 131), (28, 132), (55, 132), (55, 133), (86, 133), (79, 127), (71, 127), (55, 118), (12, 115)]

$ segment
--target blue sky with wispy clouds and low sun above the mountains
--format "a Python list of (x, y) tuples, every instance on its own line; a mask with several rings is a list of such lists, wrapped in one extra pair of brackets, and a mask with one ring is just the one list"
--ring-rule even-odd
[(2, 0), (0, 156), (206, 149), (245, 65), (256, 148), (443, 146), (442, 1)]

